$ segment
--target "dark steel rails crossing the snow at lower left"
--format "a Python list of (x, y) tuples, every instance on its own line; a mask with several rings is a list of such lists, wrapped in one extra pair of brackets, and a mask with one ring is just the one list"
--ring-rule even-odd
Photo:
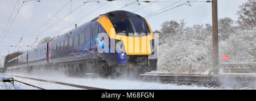
[[(0, 73), (0, 74), (3, 74), (3, 73)], [(6, 74), (5, 74), (5, 75), (6, 75)], [(98, 87), (90, 87), (90, 86), (75, 85), (75, 84), (72, 84), (72, 83), (57, 82), (57, 81), (49, 81), (49, 80), (46, 80), (46, 79), (23, 77), (23, 76), (12, 75), (12, 74), (8, 74), (8, 75), (11, 75), (11, 76), (13, 76), (13, 77), (32, 79), (32, 80), (35, 80), (35, 81), (48, 82), (48, 83), (55, 83), (55, 84), (58, 84), (58, 85), (77, 87), (77, 88), (86, 89), (86, 90), (106, 90), (106, 89), (102, 89), (102, 88), (98, 88)], [(17, 81), (17, 80), (14, 79), (14, 81)], [(17, 81), (17, 82), (23, 83), (23, 84), (28, 85), (28, 86), (36, 87), (36, 88), (38, 88), (38, 89), (45, 90), (45, 89), (43, 89), (43, 88), (41, 88), (41, 87), (37, 87), (37, 86), (31, 85), (31, 84), (29, 84), (29, 83), (25, 83), (25, 82), (21, 82), (21, 81)]]

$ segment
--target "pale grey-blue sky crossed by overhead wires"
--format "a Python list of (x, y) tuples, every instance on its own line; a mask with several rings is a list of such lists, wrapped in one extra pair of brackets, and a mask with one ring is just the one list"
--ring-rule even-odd
[[(74, 23), (77, 23), (79, 26), (88, 22), (89, 20), (92, 20), (93, 18), (96, 18), (100, 14), (105, 14), (109, 11), (122, 8), (121, 10), (131, 11), (141, 16), (146, 16), (154, 11), (158, 11), (166, 6), (172, 5), (174, 2), (181, 1), (167, 7), (164, 10), (171, 9), (172, 7), (180, 5), (187, 0), (159, 0), (158, 2), (152, 3), (152, 5), (148, 5), (150, 3), (144, 2), (140, 2), (140, 5), (138, 5), (133, 3), (135, 0), (117, 0), (107, 3), (105, 0), (98, 0), (100, 3), (90, 0), (92, 2), (87, 2), (84, 5), (82, 4), (88, 0), (72, 0), (72, 2), (70, 2), (70, 0), (40, 1), (41, 2), (32, 0), (22, 3), (23, 0), (18, 0), (19, 3), (16, 3), (17, 0), (0, 0), (0, 58), (1, 56), (5, 56), (17, 50), (30, 50), (31, 47), (26, 47), (26, 45), (32, 45), (33, 43), (38, 42), (35, 42), (37, 37), (38, 40), (40, 40), (47, 36), (52, 37), (61, 35), (69, 30), (72, 30), (72, 28), (75, 27)], [(239, 10), (239, 6), (245, 2), (246, 0), (218, 0), (218, 19), (229, 17), (233, 20), (237, 20), (238, 16), (236, 13)], [(153, 31), (160, 30), (160, 25), (168, 20), (176, 20), (179, 22), (181, 19), (184, 19), (187, 23), (186, 26), (188, 27), (191, 27), (194, 24), (212, 24), (211, 3), (191, 2), (190, 4), (191, 6), (179, 6), (175, 9), (171, 9), (156, 16), (152, 16), (151, 18), (148, 18), (147, 21)], [(18, 10), (18, 7), (21, 7), (21, 9)], [(63, 9), (60, 10), (62, 7)], [(79, 9), (76, 9), (78, 7)], [(97, 9), (97, 7), (100, 8)], [(140, 9), (141, 7), (144, 8)], [(13, 15), (7, 24), (13, 10)], [(71, 13), (71, 11), (73, 12)], [(58, 13), (56, 14), (56, 12)], [(89, 12), (91, 13), (89, 14)], [(13, 21), (15, 15), (16, 19)], [(84, 18), (82, 18), (83, 16)], [(49, 20), (50, 18), (52, 19)], [(78, 19), (80, 20), (76, 22)], [(49, 20), (49, 22), (47, 22), (47, 20)], [(13, 24), (11, 24), (11, 22), (13, 22)], [(20, 41), (20, 39), (22, 40)], [(16, 45), (17, 47), (10, 47), (10, 45)]]

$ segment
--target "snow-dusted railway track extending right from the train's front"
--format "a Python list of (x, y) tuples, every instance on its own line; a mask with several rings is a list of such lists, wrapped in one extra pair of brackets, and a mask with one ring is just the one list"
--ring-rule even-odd
[(143, 81), (159, 81), (163, 83), (256, 87), (256, 77), (207, 74), (141, 74), (139, 78)]

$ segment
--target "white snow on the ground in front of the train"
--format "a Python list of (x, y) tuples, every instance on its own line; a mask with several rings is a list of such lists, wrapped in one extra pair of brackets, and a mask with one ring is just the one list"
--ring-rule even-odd
[[(180, 89), (193, 89), (193, 90), (208, 90), (208, 89), (214, 89), (209, 87), (198, 87), (198, 86), (185, 86), (185, 85), (174, 85), (174, 84), (163, 84), (159, 82), (143, 82), (138, 81), (134, 79), (123, 79), (123, 78), (117, 78), (117, 79), (109, 79), (109, 78), (77, 78), (77, 77), (67, 77), (63, 74), (56, 74), (56, 75), (49, 75), (49, 74), (43, 74), (43, 75), (31, 75), (31, 74), (17, 74), (13, 73), (14, 75), (20, 75), (24, 77), (31, 77), (31, 78), (39, 78), (39, 79), (47, 79), (51, 81), (58, 81), (58, 82), (65, 82), (65, 83), (72, 83), (76, 85), (82, 85), (82, 86), (90, 86), (90, 87), (100, 87), (103, 89), (115, 89), (115, 90), (180, 90)], [(63, 85), (57, 85), (54, 83), (47, 83), (47, 82), (40, 82), (40, 81), (34, 81), (30, 79), (24, 79), (24, 78), (17, 78), (14, 77), (14, 79), (17, 79), (22, 82), (30, 83), (31, 85), (35, 85), (38, 87), (42, 87), (44, 89), (79, 89), (76, 87), (69, 87), (69, 86), (63, 86)]]

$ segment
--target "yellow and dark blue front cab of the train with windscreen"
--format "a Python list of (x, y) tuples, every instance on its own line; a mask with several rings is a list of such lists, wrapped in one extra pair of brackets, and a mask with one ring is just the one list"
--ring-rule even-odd
[(112, 11), (100, 16), (97, 22), (108, 34), (110, 43), (121, 46), (121, 49), (116, 47), (114, 54), (109, 55), (114, 59), (107, 61), (117, 72), (126, 73), (129, 70), (141, 74), (156, 70), (154, 34), (146, 19), (132, 12)]

